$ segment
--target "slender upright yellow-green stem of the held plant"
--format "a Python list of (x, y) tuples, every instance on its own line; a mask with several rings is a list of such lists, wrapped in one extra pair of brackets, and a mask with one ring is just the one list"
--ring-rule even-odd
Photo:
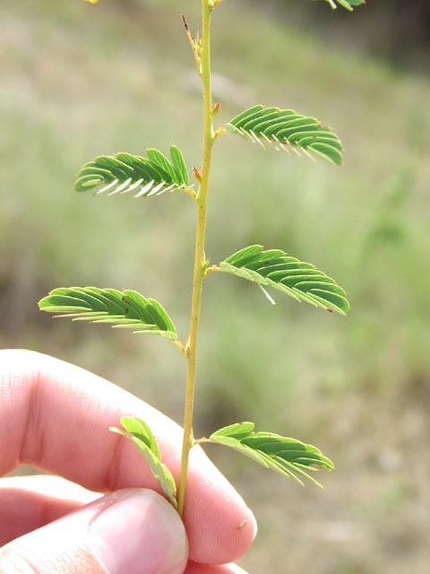
[(188, 458), (193, 447), (193, 403), (195, 388), (195, 369), (197, 360), (197, 337), (199, 332), (200, 309), (202, 303), (202, 283), (206, 275), (207, 261), (204, 252), (206, 236), (206, 215), (211, 172), (212, 147), (215, 141), (212, 122), (211, 94), (211, 0), (202, 0), (202, 54), (201, 77), (203, 93), (203, 157), (202, 179), (198, 196), (197, 227), (195, 232), (193, 295), (191, 304), (190, 335), (186, 346), (186, 390), (184, 413), (184, 440), (182, 446), (181, 475), (178, 491), (178, 512), (182, 516), (185, 504), (185, 483), (188, 470)]

